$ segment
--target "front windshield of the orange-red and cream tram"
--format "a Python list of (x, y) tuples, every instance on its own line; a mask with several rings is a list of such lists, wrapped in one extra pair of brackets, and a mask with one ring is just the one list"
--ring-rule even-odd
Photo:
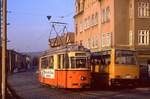
[(87, 68), (87, 58), (71, 57), (71, 68)]

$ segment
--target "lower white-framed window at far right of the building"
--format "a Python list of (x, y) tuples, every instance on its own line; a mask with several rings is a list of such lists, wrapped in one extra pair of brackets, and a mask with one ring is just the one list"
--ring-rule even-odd
[(139, 45), (149, 45), (149, 30), (139, 30), (138, 31), (138, 44)]

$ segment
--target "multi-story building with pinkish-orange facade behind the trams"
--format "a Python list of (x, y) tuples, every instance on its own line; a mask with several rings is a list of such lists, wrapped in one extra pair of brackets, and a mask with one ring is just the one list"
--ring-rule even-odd
[(75, 41), (98, 52), (128, 48), (150, 60), (150, 0), (76, 0)]

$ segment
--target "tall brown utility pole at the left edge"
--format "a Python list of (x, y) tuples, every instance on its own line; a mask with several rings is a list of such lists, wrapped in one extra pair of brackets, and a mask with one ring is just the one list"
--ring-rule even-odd
[(2, 0), (2, 99), (6, 99), (7, 0)]

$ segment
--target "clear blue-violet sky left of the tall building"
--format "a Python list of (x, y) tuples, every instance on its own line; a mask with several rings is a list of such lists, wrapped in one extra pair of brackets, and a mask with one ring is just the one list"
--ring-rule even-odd
[[(68, 23), (74, 31), (75, 0), (7, 0), (8, 48), (19, 52), (38, 52), (48, 49), (51, 21)], [(64, 16), (62, 19), (61, 16)]]

